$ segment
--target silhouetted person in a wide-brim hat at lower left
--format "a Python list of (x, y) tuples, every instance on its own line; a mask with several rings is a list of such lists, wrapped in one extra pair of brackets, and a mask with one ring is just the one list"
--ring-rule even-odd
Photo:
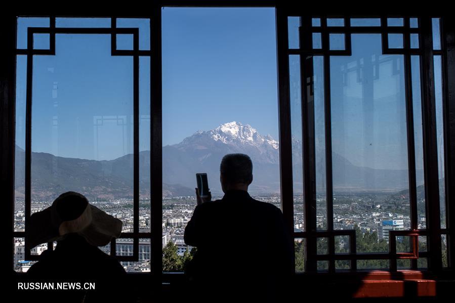
[[(27, 271), (30, 279), (42, 282), (95, 282), (95, 290), (60, 290), (35, 292), (49, 299), (68, 301), (127, 300), (123, 281), (126, 272), (113, 257), (97, 246), (107, 245), (121, 233), (121, 221), (89, 204), (86, 197), (75, 192), (61, 194), (43, 211), (30, 217), (27, 241), (30, 247), (57, 241), (55, 250), (46, 250), (40, 261)], [(116, 301), (116, 300), (115, 300)]]

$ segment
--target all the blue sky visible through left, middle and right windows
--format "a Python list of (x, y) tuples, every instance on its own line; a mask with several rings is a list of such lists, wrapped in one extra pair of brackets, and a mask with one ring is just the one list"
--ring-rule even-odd
[[(83, 22), (85, 26), (109, 26), (106, 19)], [(80, 19), (57, 20), (57, 26), (77, 26), (76, 23), (80, 24)], [(18, 47), (26, 47), (26, 26), (48, 25), (44, 18), (19, 19)], [(434, 25), (436, 28), (437, 24)], [(147, 22), (118, 20), (118, 26), (139, 26), (140, 48), (149, 47)], [(35, 38), (38, 48), (49, 44), (45, 36)], [(118, 37), (117, 48), (128, 49), (129, 45), (131, 36)], [(378, 34), (353, 35), (352, 49), (351, 57), (330, 59), (333, 150), (356, 165), (405, 169), (403, 58), (382, 55)], [(108, 35), (60, 34), (56, 38), (56, 52), (56, 56), (34, 57), (32, 150), (98, 160), (132, 153), (132, 58), (110, 56)], [(363, 74), (364, 63), (378, 59), (384, 62), (373, 67), (373, 73)], [(421, 168), (419, 63), (412, 62), (416, 158), (417, 167)], [(435, 63), (439, 88), (437, 58)], [(162, 64), (163, 145), (178, 143), (199, 129), (209, 130), (230, 121), (249, 123), (261, 134), (279, 139), (273, 9), (164, 8)], [(292, 59), (292, 80), (299, 72), (296, 66)], [(25, 68), (25, 57), (18, 56), (20, 147), (25, 142)], [(142, 57), (140, 150), (149, 149), (149, 74), (149, 59)], [(323, 148), (322, 60), (317, 58), (314, 81), (316, 142)], [(298, 91), (300, 86), (292, 86), (294, 104), (300, 100)], [(436, 91), (436, 98), (438, 145), (442, 147), (440, 90)], [(293, 135), (298, 138), (299, 107), (297, 104), (292, 112)]]

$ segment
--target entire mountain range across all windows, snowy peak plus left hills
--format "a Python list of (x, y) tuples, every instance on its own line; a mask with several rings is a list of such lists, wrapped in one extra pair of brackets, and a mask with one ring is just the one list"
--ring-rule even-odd
[[(302, 142), (292, 139), (294, 193), (303, 191)], [(263, 136), (249, 124), (229, 122), (209, 131), (199, 131), (182, 142), (162, 148), (163, 196), (192, 195), (195, 174), (206, 172), (212, 193), (222, 194), (220, 162), (228, 153), (244, 153), (253, 161), (252, 194), (279, 193), (279, 143)], [(150, 195), (150, 152), (140, 152), (140, 196)], [(316, 150), (316, 187), (325, 188), (325, 150)], [(24, 193), (25, 153), (16, 148), (16, 197)], [(131, 198), (133, 196), (133, 155), (113, 160), (85, 160), (32, 152), (32, 196), (52, 199), (66, 190), (89, 198)], [(335, 191), (380, 191), (407, 188), (408, 171), (356, 166), (332, 153)], [(422, 176), (418, 170), (417, 176)], [(36, 177), (36, 176), (39, 176)], [(287, 182), (283, 180), (282, 182)], [(417, 184), (423, 180), (418, 178)]]

